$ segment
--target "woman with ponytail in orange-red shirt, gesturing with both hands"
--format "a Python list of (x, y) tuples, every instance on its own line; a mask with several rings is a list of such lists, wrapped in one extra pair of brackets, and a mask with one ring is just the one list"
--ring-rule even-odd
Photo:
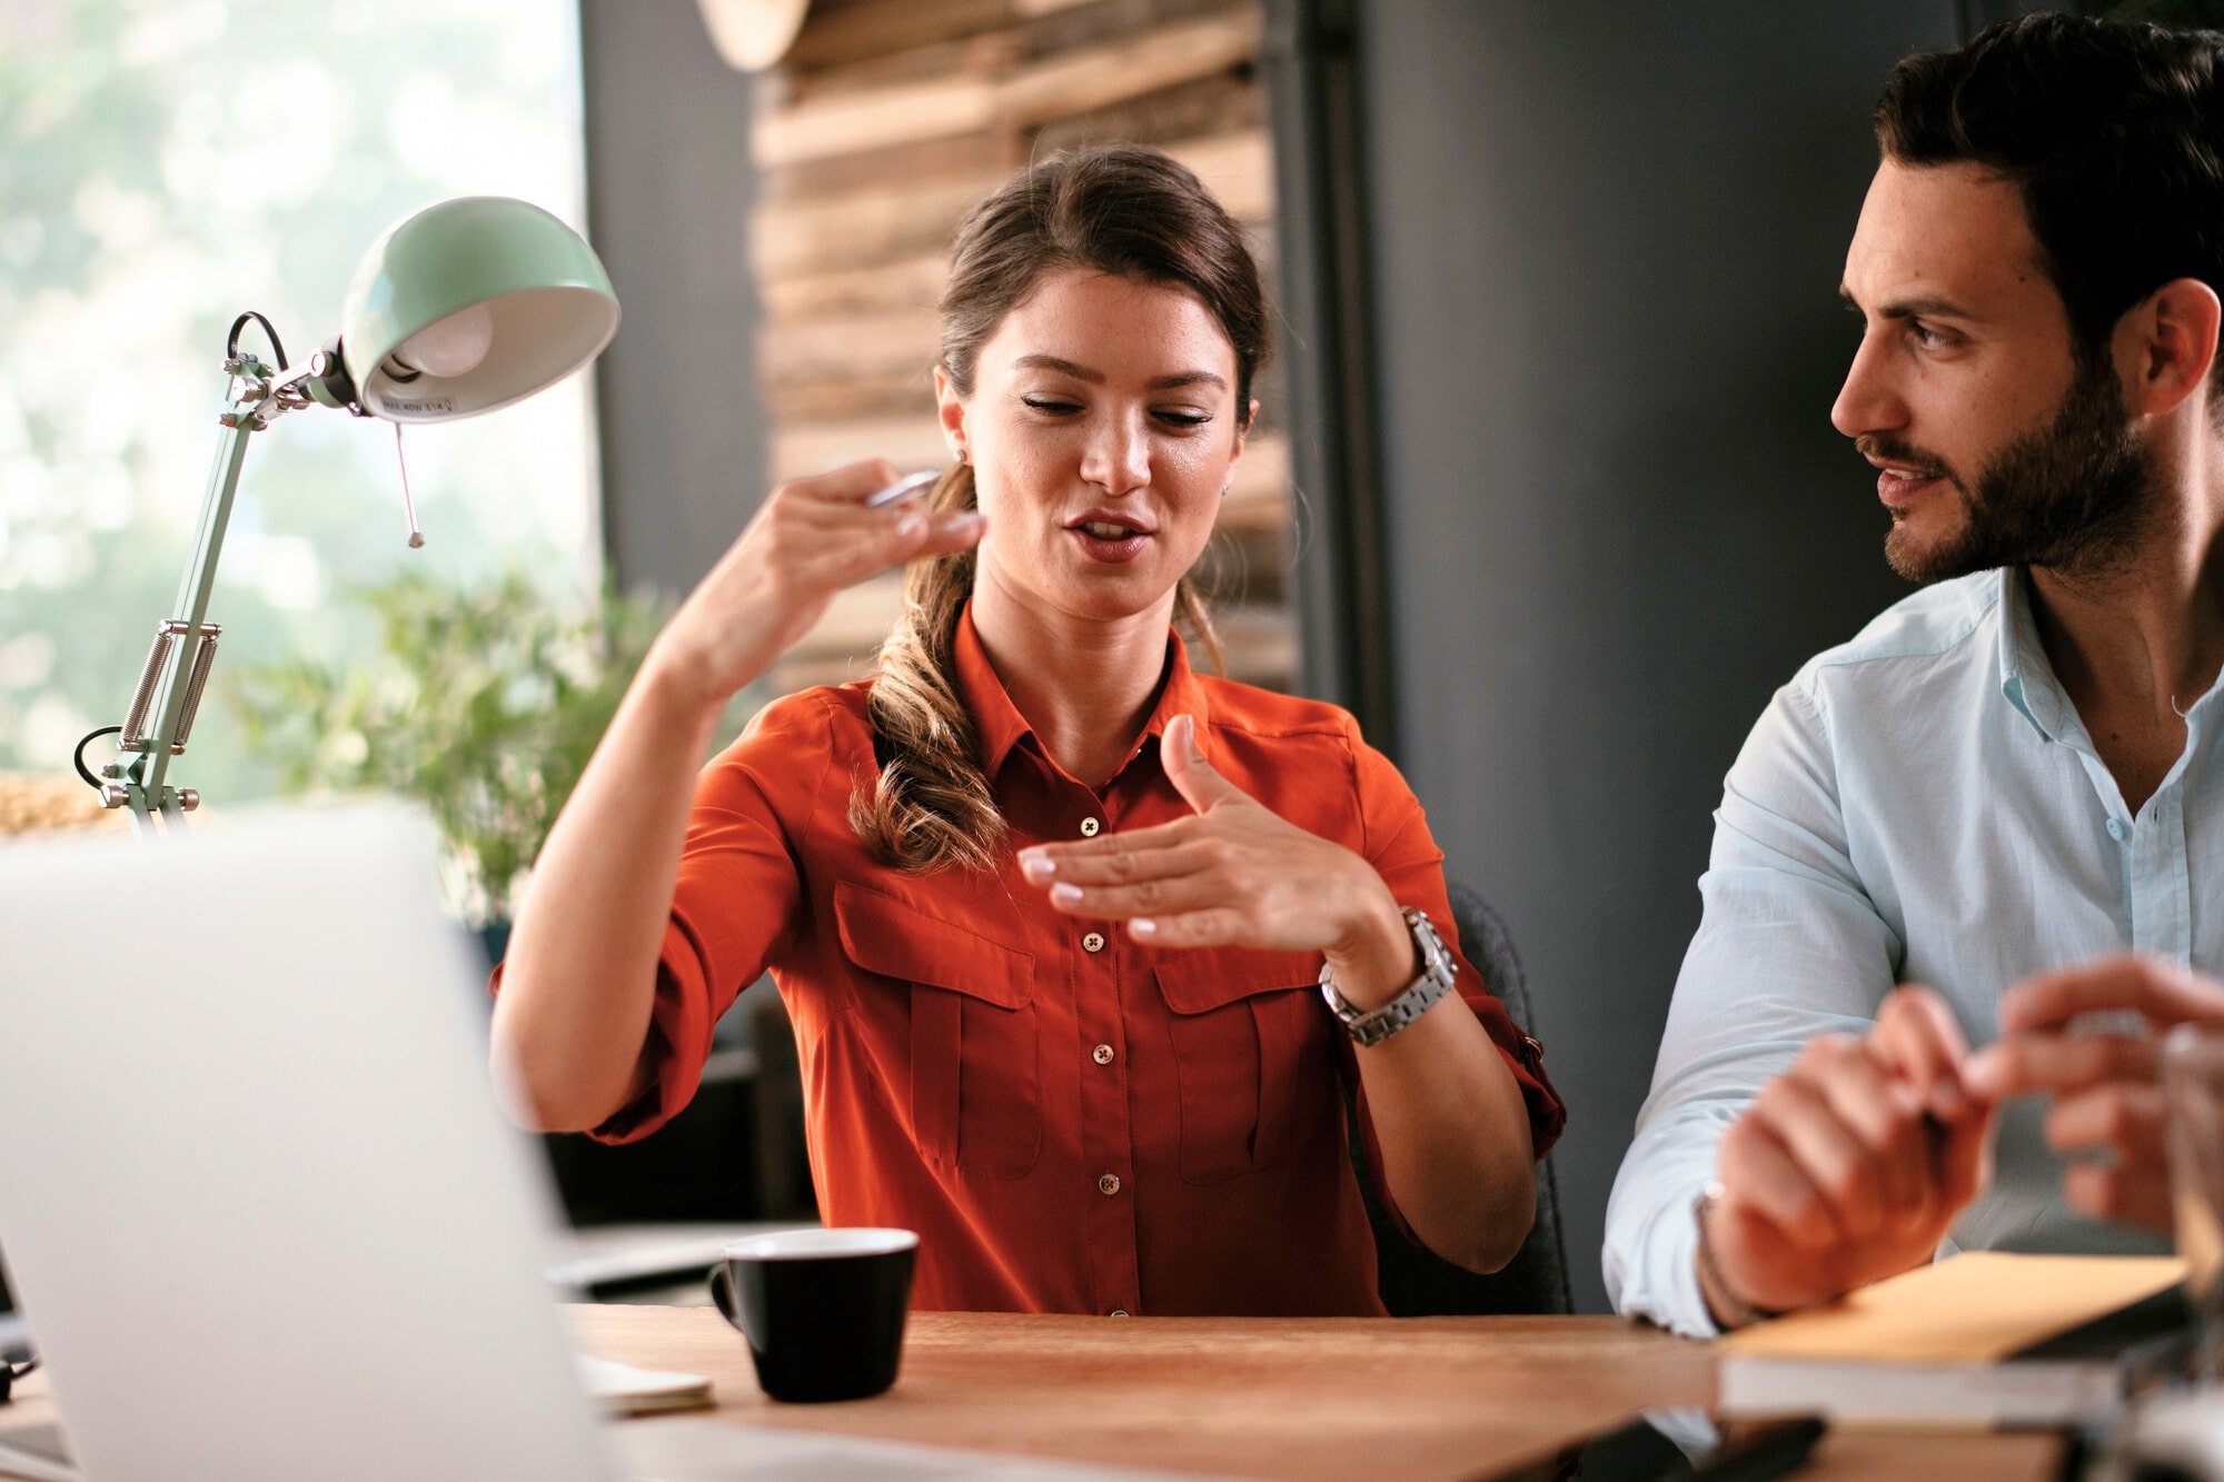
[[(1052, 156), (972, 214), (956, 465), (887, 507), (887, 463), (774, 490), (549, 834), (494, 1017), (540, 1126), (661, 1126), (770, 968), (821, 1211), (919, 1231), (919, 1306), (1381, 1313), (1341, 1084), (1401, 1226), (1512, 1257), (1563, 1113), (1439, 939), (1419, 803), (1348, 714), (1174, 632), (1217, 659), (1188, 572), (1263, 352), (1241, 234), (1163, 154)], [(878, 674), (705, 768), (727, 699), (896, 563)]]

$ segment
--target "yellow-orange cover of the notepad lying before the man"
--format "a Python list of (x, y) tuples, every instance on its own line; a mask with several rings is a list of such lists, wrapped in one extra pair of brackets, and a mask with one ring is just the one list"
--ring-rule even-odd
[(2175, 1255), (1966, 1251), (1715, 1342), (1753, 1357), (1993, 1364), (2184, 1277)]

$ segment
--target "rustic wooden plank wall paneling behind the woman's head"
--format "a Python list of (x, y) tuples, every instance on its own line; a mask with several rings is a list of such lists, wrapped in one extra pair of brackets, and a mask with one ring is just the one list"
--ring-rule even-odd
[[(1036, 154), (1154, 142), (1234, 216), (1272, 283), (1274, 160), (1257, 0), (836, 0), (805, 22), (756, 120), (752, 263), (772, 474), (856, 458), (939, 467), (936, 298), (950, 238)], [(1225, 496), (1201, 576), (1230, 674), (1288, 688), (1290, 449), (1281, 383)], [(845, 592), (783, 659), (794, 690), (870, 674), (903, 610), (901, 574)]]

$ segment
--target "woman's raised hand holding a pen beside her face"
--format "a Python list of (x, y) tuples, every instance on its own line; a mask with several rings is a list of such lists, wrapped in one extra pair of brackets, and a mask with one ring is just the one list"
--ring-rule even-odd
[(987, 521), (970, 510), (932, 514), (925, 498), (867, 510), (865, 498), (894, 481), (896, 465), (872, 458), (772, 490), (672, 614), (649, 663), (703, 705), (723, 705), (810, 632), (843, 587), (981, 541)]

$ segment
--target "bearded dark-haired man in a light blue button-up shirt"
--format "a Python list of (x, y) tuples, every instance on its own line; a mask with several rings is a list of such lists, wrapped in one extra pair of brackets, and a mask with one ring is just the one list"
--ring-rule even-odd
[(2168, 1246), (2153, 1030), (2224, 1026), (2220, 120), (2202, 33), (2035, 16), (1895, 69), (1833, 423), (1933, 585), (1730, 770), (1619, 1311), (1712, 1333), (1942, 1248)]

